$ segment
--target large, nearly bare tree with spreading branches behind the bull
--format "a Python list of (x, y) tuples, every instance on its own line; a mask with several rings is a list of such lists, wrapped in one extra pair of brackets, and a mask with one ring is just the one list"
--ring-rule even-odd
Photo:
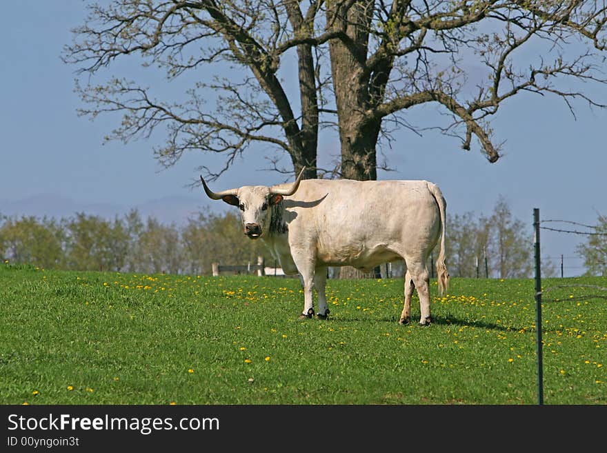
[[(169, 81), (195, 74), (197, 82), (179, 101), (157, 99), (137, 81), (91, 77), (77, 83), (88, 105), (81, 114), (121, 112), (110, 139), (163, 127), (155, 155), (164, 165), (190, 150), (221, 153), (225, 165), (206, 168), (215, 177), (256, 142), (286, 152), (296, 173), (305, 165), (306, 178), (322, 177), (317, 142), (327, 125), (341, 141), (331, 176), (377, 179), (377, 144), (390, 141), (391, 128), (420, 132), (408, 110), (428, 103), (446, 113), (436, 128), (465, 150), (476, 137), (495, 162), (503, 138), (490, 119), (507, 99), (528, 92), (553, 94), (572, 112), (575, 99), (605, 106), (577, 83), (606, 83), (599, 0), (115, 0), (89, 8), (64, 61), (91, 76), (137, 55)], [(281, 79), (293, 62), (295, 96)]]

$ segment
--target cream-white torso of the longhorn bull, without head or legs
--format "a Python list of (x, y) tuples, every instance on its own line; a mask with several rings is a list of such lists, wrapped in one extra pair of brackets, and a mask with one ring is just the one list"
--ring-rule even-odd
[(330, 265), (368, 267), (436, 243), (437, 201), (427, 181), (306, 180), (285, 201), (295, 212), (290, 240), (315, 241)]

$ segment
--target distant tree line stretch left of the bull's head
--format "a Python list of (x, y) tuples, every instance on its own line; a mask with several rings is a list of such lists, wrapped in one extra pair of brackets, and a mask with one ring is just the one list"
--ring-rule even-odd
[(47, 269), (210, 274), (211, 263), (256, 262), (263, 244), (243, 237), (239, 217), (198, 214), (166, 225), (137, 210), (104, 219), (2, 217), (0, 256)]

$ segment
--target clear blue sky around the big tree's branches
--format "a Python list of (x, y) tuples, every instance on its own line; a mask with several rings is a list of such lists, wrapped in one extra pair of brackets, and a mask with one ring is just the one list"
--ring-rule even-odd
[[(76, 67), (59, 57), (72, 40), (70, 29), (83, 23), (85, 6), (73, 0), (19, 1), (3, 8), (0, 212), (61, 217), (76, 210), (111, 214), (139, 207), (168, 222), (183, 221), (197, 210), (227, 208), (188, 187), (197, 178), (195, 168), (218, 164), (217, 159), (189, 154), (163, 170), (152, 157), (162, 137), (103, 144), (119, 118), (77, 116), (83, 105), (73, 92)], [(128, 77), (124, 72), (137, 69), (129, 64), (109, 73)], [(601, 90), (590, 94), (605, 102), (607, 87)], [(577, 121), (555, 98), (521, 95), (504, 103), (492, 122), (497, 137), (506, 140), (504, 157), (495, 164), (477, 146), (466, 152), (456, 139), (435, 132), (418, 137), (399, 131), (392, 148), (384, 149), (396, 171), (379, 177), (433, 181), (453, 214), (489, 214), (501, 195), (530, 231), (533, 208), (540, 208), (542, 219), (596, 223), (597, 212), (607, 213), (607, 112), (583, 103), (575, 107)], [(410, 115), (412, 122), (424, 123), (439, 111), (427, 106)], [(211, 187), (283, 182), (279, 174), (263, 171), (265, 152), (251, 150)], [(335, 136), (324, 137), (319, 152), (337, 154)], [(544, 230), (541, 239), (543, 255), (575, 256), (582, 237)], [(582, 272), (579, 265), (579, 259), (566, 259), (566, 275)]]

